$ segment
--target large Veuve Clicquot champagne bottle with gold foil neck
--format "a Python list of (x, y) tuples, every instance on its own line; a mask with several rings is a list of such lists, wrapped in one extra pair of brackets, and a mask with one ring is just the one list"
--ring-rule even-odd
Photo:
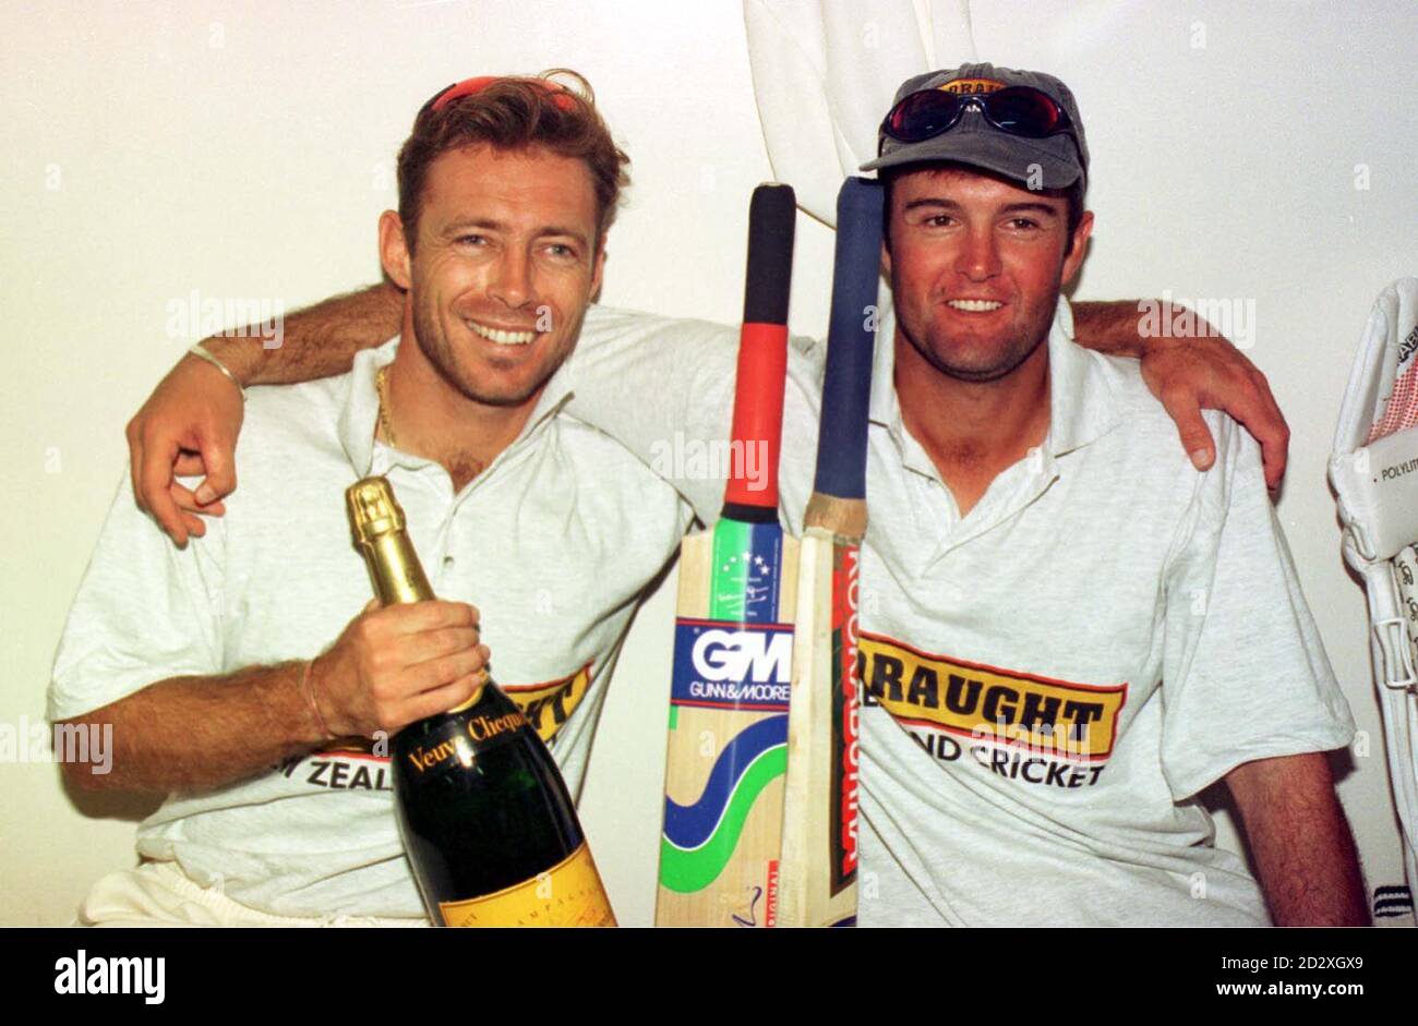
[[(434, 598), (384, 478), (347, 492), (374, 594)], [(461, 706), (390, 745), (398, 830), (434, 924), (615, 925), (576, 806), (552, 754), (489, 677)]]

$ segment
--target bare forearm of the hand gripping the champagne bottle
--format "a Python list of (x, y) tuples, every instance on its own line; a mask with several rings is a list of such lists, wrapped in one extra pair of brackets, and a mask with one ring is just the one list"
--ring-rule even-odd
[(169, 677), (65, 724), (112, 727), (109, 771), (65, 762), (92, 791), (206, 791), (254, 777), (326, 740), (305, 696), (302, 662)]

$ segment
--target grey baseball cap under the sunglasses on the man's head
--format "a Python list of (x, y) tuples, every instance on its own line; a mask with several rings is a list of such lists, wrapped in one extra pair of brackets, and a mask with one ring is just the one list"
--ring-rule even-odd
[[(986, 120), (978, 109), (966, 111), (960, 123), (919, 143), (903, 143), (885, 132), (879, 135), (882, 150), (875, 160), (862, 164), (864, 171), (900, 167), (930, 160), (954, 160), (981, 167), (995, 174), (1035, 188), (1068, 188), (1075, 181), (1088, 186), (1088, 142), (1083, 139), (1083, 119), (1078, 113), (1073, 94), (1054, 75), (1039, 71), (1015, 71), (993, 64), (961, 64), (953, 71), (932, 71), (908, 78), (896, 91), (892, 106), (913, 92), (942, 89), (957, 94), (986, 94), (1011, 85), (1028, 85), (1046, 94), (1073, 122), (1078, 147), (1069, 133), (1045, 139), (1027, 139), (1003, 132)], [(1037, 169), (1037, 174), (1032, 173)]]

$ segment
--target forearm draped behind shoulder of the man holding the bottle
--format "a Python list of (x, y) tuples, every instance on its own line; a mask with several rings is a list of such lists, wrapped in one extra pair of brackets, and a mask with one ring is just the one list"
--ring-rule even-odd
[(278, 346), (268, 349), (258, 327), (223, 332), (203, 346), (244, 385), (313, 381), (343, 374), (362, 349), (393, 339), (403, 316), (404, 293), (386, 281), (288, 315)]

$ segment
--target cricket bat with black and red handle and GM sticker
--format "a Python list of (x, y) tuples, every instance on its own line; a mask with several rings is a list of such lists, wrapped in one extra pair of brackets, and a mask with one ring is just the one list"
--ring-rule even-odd
[(797, 582), (778, 526), (794, 217), (791, 187), (753, 191), (723, 513), (679, 548), (655, 925), (774, 915)]

